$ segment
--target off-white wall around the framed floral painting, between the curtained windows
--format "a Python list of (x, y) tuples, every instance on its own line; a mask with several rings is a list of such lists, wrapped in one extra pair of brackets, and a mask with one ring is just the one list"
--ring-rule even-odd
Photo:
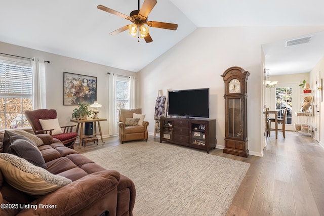
[[(56, 109), (60, 125), (71, 125), (72, 111), (77, 106), (63, 105), (63, 72), (84, 74), (97, 77), (97, 100), (102, 105), (98, 116), (108, 119), (108, 75), (107, 72), (119, 75), (137, 76), (137, 73), (99, 65), (82, 60), (72, 59), (51, 53), (41, 52), (29, 48), (19, 47), (0, 42), (1, 53), (37, 57), (50, 61), (46, 63), (46, 104), (47, 109)], [(137, 101), (137, 104), (139, 100)], [(108, 135), (108, 121), (100, 123), (103, 136)]]

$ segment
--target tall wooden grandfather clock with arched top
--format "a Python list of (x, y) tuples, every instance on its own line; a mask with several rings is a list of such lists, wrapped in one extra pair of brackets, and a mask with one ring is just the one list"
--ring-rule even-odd
[(248, 77), (240, 67), (230, 67), (221, 76), (225, 84), (224, 153), (248, 157)]

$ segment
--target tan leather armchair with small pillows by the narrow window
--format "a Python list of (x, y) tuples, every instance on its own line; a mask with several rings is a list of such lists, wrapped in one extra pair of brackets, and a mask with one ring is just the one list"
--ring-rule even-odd
[(134, 122), (132, 121), (134, 119), (133, 118), (134, 113), (135, 113), (135, 118), (137, 118), (138, 115), (142, 114), (142, 109), (121, 109), (120, 110), (118, 126), (119, 126), (119, 140), (121, 143), (124, 143), (125, 141), (144, 140), (144, 139), (147, 142), (147, 138), (148, 138), (147, 126), (149, 123), (148, 121), (143, 121), (143, 124), (141, 124), (141, 120), (140, 120), (139, 121), (140, 125), (138, 124), (135, 125), (136, 122), (132, 124), (132, 122)]

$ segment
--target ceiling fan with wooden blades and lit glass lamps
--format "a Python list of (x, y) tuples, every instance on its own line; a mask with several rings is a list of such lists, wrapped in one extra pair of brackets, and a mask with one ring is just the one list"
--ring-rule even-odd
[[(125, 14), (122, 14), (118, 11), (112, 10), (110, 8), (107, 8), (102, 5), (98, 5), (97, 8), (108, 12), (110, 14), (116, 15), (118, 17), (130, 20), (133, 24), (126, 25), (124, 27), (118, 28), (115, 31), (110, 32), (111, 35), (119, 34), (120, 32), (126, 31), (129, 29), (129, 33), (136, 37), (138, 33), (138, 38), (142, 37), (145, 39), (147, 43), (152, 42), (153, 39), (148, 33), (148, 27), (154, 27), (154, 28), (164, 28), (164, 29), (170, 29), (170, 30), (177, 30), (178, 24), (173, 23), (165, 23), (165, 22), (156, 22), (156, 21), (147, 21), (147, 16), (151, 12), (151, 10), (156, 5), (156, 0), (144, 0), (144, 3), (142, 5), (142, 8), (140, 9), (140, 0), (138, 0), (138, 10), (132, 11), (130, 13), (130, 16), (127, 16)], [(145, 26), (147, 25), (147, 26)], [(138, 40), (139, 42), (139, 40)]]

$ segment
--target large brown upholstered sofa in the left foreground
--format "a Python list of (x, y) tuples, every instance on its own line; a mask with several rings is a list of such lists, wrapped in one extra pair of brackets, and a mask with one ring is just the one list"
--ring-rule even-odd
[[(133, 215), (135, 186), (115, 170), (106, 170), (49, 135), (36, 135), (47, 170), (72, 183), (41, 197), (33, 197), (9, 185), (0, 172), (0, 215)], [(0, 133), (0, 146), (1, 140)], [(0, 149), (1, 152), (1, 149)], [(11, 205), (14, 204), (14, 205)], [(18, 208), (16, 208), (18, 204)], [(55, 208), (40, 208), (50, 204)], [(28, 206), (37, 206), (37, 208)], [(13, 207), (14, 206), (14, 207)], [(24, 206), (23, 209), (20, 207)]]

